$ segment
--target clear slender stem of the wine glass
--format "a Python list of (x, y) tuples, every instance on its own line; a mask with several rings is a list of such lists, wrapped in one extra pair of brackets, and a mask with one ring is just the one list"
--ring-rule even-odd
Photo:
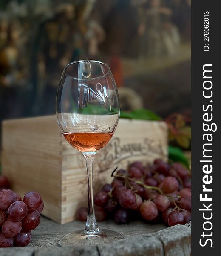
[(84, 152), (88, 172), (88, 218), (86, 222), (85, 232), (99, 232), (94, 213), (94, 198), (93, 198), (93, 163), (96, 152)]

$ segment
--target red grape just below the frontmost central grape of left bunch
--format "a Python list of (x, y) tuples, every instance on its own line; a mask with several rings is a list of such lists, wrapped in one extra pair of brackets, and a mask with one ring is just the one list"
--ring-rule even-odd
[(7, 219), (2, 225), (2, 233), (4, 236), (11, 238), (17, 236), (22, 229), (21, 221), (11, 221)]

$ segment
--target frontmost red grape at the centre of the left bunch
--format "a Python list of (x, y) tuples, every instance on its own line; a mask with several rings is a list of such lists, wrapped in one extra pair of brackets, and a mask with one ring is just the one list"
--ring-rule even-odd
[(28, 212), (27, 205), (23, 201), (15, 201), (8, 208), (8, 218), (11, 221), (21, 221)]

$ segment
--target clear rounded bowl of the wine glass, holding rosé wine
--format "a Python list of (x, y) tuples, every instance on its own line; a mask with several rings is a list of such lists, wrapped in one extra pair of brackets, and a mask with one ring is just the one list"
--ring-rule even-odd
[[(109, 67), (98, 61), (68, 64), (58, 87), (56, 112), (62, 134), (77, 150), (97, 151), (106, 145), (119, 119), (118, 93)], [(77, 138), (73, 132), (85, 134)], [(94, 137), (100, 140), (93, 146)], [(80, 142), (90, 139), (91, 148), (83, 148)]]

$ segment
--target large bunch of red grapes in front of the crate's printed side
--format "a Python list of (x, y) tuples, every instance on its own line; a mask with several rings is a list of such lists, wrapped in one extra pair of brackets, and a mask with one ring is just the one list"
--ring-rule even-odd
[[(168, 226), (191, 221), (191, 175), (180, 163), (156, 159), (151, 166), (134, 162), (112, 173), (114, 180), (94, 196), (97, 221), (113, 218), (118, 224), (146, 220)], [(87, 208), (77, 211), (87, 219)]]

